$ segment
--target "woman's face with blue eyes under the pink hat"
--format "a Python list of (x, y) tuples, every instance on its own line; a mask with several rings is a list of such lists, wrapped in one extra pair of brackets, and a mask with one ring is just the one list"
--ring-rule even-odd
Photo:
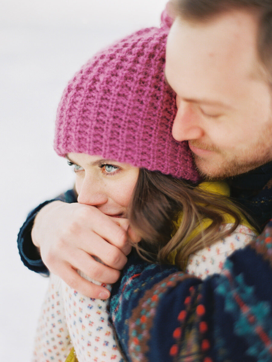
[(125, 218), (139, 168), (86, 153), (68, 153), (74, 167), (78, 202), (96, 206), (104, 214)]

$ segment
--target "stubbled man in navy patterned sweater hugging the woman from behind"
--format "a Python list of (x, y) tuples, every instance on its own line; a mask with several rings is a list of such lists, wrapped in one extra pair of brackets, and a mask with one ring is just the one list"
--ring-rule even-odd
[[(172, 5), (176, 19), (165, 75), (177, 93), (173, 136), (189, 141), (203, 175), (241, 174), (229, 179), (232, 195), (263, 229), (272, 211), (272, 1), (178, 0)], [(103, 298), (103, 287), (73, 273), (79, 267), (79, 245), (98, 235), (115, 247), (108, 255), (88, 244), (80, 254), (80, 269), (87, 275), (115, 282), (129, 252), (127, 225), (107, 220), (107, 228), (95, 208), (86, 205), (54, 201), (38, 210), (32, 240), (45, 264), (83, 294)], [(35, 214), (19, 234), (29, 248)], [(224, 275), (205, 282), (130, 260), (111, 303), (125, 353), (135, 361), (271, 361), (271, 241), (268, 224), (251, 247), (229, 258)], [(93, 268), (91, 255), (108, 266)], [(45, 271), (39, 263), (32, 269)], [(129, 297), (120, 298), (121, 291)]]

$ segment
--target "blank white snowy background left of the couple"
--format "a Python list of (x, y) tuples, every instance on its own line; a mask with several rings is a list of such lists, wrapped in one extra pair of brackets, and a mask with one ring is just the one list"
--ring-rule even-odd
[(166, 0), (0, 2), (0, 356), (31, 361), (48, 283), (17, 251), (28, 211), (73, 185), (53, 150), (55, 112), (75, 71), (101, 47), (160, 24)]

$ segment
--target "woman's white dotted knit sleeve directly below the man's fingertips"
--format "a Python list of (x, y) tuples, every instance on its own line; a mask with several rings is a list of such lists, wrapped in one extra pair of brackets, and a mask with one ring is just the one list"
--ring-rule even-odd
[[(101, 285), (86, 274), (79, 274)], [(111, 290), (111, 285), (104, 285)], [(62, 281), (63, 303), (71, 342), (79, 362), (124, 362), (109, 320), (109, 300), (88, 298)]]

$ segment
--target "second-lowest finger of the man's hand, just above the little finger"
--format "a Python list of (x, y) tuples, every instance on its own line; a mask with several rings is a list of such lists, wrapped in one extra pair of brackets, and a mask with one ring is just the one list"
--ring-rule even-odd
[(96, 261), (93, 257), (82, 250), (78, 250), (71, 260), (74, 269), (83, 271), (87, 277), (101, 283), (112, 284), (118, 281), (120, 271)]

